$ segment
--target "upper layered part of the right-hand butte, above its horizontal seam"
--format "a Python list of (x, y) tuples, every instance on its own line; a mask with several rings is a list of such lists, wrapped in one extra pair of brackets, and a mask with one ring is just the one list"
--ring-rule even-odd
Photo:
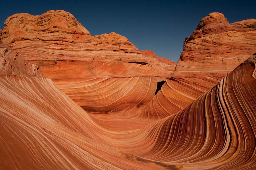
[(249, 27), (252, 24), (256, 25), (256, 19), (229, 24), (222, 13), (210, 13), (186, 38), (175, 75), (230, 72), (255, 53), (256, 27)]

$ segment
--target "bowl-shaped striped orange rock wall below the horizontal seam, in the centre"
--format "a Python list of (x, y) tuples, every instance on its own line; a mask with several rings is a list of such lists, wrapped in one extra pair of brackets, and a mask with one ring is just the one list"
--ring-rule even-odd
[[(139, 111), (153, 98), (159, 77), (73, 78), (53, 80), (57, 87), (89, 113)], [(100, 89), (100, 90), (99, 90)]]

